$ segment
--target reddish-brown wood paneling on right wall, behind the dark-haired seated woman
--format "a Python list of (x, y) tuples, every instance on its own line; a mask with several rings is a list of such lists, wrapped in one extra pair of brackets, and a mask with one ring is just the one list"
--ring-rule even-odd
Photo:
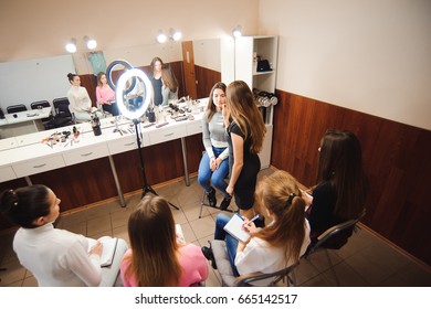
[(324, 132), (354, 131), (370, 180), (364, 223), (431, 264), (430, 239), (423, 236), (431, 234), (431, 132), (294, 94), (277, 90), (277, 96), (272, 164), (313, 185)]

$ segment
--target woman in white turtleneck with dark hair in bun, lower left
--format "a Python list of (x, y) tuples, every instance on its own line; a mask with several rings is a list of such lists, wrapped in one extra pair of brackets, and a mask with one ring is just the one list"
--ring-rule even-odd
[(101, 267), (103, 245), (94, 239), (55, 228), (60, 202), (54, 192), (36, 184), (0, 194), (0, 210), (21, 227), (13, 251), (22, 266), (45, 287), (114, 286), (127, 244), (118, 239), (111, 266)]

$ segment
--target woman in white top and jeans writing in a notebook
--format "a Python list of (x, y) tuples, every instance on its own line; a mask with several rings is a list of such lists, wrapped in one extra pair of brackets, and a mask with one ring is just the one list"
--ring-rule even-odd
[[(246, 243), (238, 242), (224, 232), (230, 220), (228, 215), (219, 214), (216, 219), (214, 238), (227, 242), (235, 276), (257, 271), (269, 274), (288, 267), (298, 262), (309, 244), (305, 202), (297, 181), (290, 173), (278, 170), (264, 178), (257, 184), (255, 201), (272, 222), (257, 228), (243, 217), (243, 228), (251, 234)], [(213, 259), (211, 248), (202, 247), (202, 253), (208, 259)]]

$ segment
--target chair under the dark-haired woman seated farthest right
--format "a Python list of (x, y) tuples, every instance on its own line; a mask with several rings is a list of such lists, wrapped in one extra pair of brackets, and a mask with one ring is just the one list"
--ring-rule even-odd
[(317, 237), (317, 243), (311, 244), (307, 252), (304, 255), (304, 258), (309, 262), (309, 264), (316, 269), (317, 267), (311, 262), (312, 256), (320, 251), (325, 252), (326, 259), (328, 260), (329, 269), (333, 273), (335, 283), (337, 286), (340, 286), (337, 274), (334, 269), (334, 264), (329, 256), (329, 249), (340, 249), (344, 245), (347, 244), (348, 238), (353, 235), (357, 228), (356, 224), (366, 215), (366, 210), (357, 219), (348, 220), (340, 224), (329, 227), (324, 233)]

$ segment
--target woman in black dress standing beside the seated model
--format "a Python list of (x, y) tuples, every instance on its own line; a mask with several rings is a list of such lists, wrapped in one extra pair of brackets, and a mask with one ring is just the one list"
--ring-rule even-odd
[(261, 161), (265, 124), (250, 87), (242, 81), (232, 82), (227, 88), (227, 106), (223, 118), (228, 131), (230, 179), (227, 192), (235, 196), (241, 214), (254, 215), (254, 191)]

